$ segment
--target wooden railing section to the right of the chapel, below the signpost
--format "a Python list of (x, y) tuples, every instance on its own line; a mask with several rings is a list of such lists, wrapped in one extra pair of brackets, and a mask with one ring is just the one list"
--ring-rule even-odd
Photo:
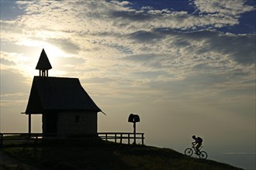
[(113, 140), (115, 142), (123, 143), (123, 140), (127, 140), (130, 145), (130, 141), (133, 140), (133, 144), (136, 144), (137, 139), (141, 140), (141, 145), (144, 145), (144, 133), (127, 133), (127, 132), (99, 132), (99, 138), (109, 141)]

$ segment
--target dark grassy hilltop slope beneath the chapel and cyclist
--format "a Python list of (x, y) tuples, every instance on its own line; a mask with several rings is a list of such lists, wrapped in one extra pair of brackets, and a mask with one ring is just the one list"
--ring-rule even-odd
[[(120, 145), (107, 141), (50, 141), (37, 145), (6, 145), (7, 152), (38, 169), (235, 170), (231, 165), (189, 158), (168, 148)], [(1, 169), (29, 169), (28, 166)]]

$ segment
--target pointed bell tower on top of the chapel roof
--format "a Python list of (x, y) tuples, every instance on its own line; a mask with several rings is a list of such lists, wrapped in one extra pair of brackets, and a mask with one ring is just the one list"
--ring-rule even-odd
[(39, 76), (48, 76), (48, 70), (50, 69), (52, 69), (52, 66), (50, 65), (47, 53), (43, 49), (36, 65), (36, 70), (39, 70)]

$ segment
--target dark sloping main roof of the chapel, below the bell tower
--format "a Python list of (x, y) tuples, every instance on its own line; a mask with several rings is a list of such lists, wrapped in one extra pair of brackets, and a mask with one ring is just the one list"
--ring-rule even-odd
[(70, 110), (101, 111), (78, 78), (34, 76), (26, 114)]

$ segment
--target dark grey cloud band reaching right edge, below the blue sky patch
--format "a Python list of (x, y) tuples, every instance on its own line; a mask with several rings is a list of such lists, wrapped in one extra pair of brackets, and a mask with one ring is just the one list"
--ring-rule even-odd
[[(201, 55), (208, 52), (216, 52), (223, 56), (230, 56), (237, 63), (253, 64), (256, 50), (256, 35), (233, 35), (222, 32), (175, 32), (173, 30), (157, 30), (164, 37), (175, 37), (171, 46), (187, 46), (191, 53)], [(148, 34), (149, 35), (149, 34)], [(193, 46), (196, 42), (202, 42), (202, 46)], [(170, 47), (171, 47), (170, 46)]]

